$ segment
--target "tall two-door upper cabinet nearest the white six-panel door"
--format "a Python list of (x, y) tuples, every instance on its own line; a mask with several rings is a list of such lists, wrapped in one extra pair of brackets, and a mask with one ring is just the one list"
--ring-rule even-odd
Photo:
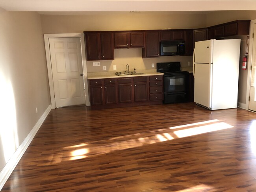
[(85, 33), (87, 60), (114, 59), (113, 33)]

